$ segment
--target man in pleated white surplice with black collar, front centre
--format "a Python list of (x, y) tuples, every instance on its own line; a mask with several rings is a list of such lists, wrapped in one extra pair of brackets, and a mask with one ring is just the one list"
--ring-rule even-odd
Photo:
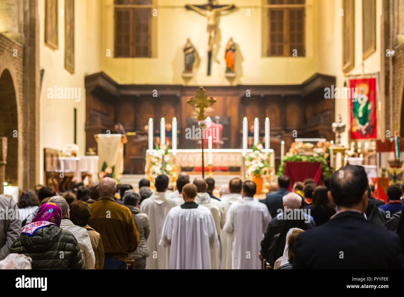
[(172, 208), (164, 221), (161, 246), (170, 246), (169, 269), (211, 269), (210, 249), (219, 246), (210, 210), (195, 203), (196, 186), (182, 188), (184, 203)]

